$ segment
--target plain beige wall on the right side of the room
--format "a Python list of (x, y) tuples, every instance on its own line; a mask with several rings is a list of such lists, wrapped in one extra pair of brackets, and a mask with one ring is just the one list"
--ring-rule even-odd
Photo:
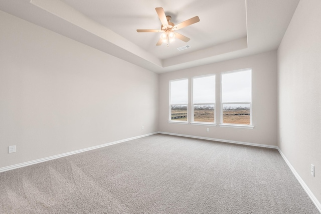
[[(278, 146), (321, 201), (321, 1), (302, 0), (278, 49)], [(315, 177), (310, 174), (315, 166)]]

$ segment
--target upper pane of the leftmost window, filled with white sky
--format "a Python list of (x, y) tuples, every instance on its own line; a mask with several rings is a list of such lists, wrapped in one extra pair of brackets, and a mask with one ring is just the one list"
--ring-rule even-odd
[(188, 103), (188, 79), (171, 81), (171, 105)]

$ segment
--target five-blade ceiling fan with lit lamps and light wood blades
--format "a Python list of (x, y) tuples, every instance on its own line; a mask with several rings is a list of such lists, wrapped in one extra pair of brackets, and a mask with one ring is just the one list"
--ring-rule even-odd
[(200, 18), (198, 16), (193, 17), (189, 20), (186, 20), (178, 25), (175, 25), (171, 22), (172, 17), (166, 16), (163, 8), (155, 8), (157, 15), (159, 17), (159, 20), (161, 20), (162, 27), (161, 30), (158, 29), (138, 29), (137, 32), (163, 32), (161, 35), (161, 39), (156, 43), (156, 45), (162, 45), (163, 42), (167, 42), (167, 47), (169, 47), (169, 42), (174, 39), (175, 37), (184, 41), (188, 42), (190, 41), (190, 38), (183, 36), (182, 34), (179, 34), (175, 32), (176, 30), (185, 28), (189, 25), (193, 25), (197, 22), (200, 22)]

